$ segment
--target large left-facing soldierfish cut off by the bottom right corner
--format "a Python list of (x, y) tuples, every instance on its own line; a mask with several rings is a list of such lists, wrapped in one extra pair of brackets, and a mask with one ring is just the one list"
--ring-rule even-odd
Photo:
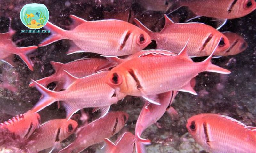
[(255, 128), (219, 114), (195, 115), (187, 123), (188, 132), (210, 153), (255, 153)]

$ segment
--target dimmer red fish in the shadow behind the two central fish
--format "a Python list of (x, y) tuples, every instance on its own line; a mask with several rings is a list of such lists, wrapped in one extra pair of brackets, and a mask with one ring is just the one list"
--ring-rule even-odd
[[(55, 73), (49, 77), (44, 77), (40, 80), (37, 80), (36, 82), (42, 84), (45, 87), (48, 84), (55, 82), (56, 87), (54, 91), (60, 91), (61, 89), (64, 89), (63, 85), (65, 84), (65, 71), (75, 77), (81, 78), (104, 69), (107, 70), (109, 67), (114, 66), (114, 63), (99, 58), (82, 58), (66, 64), (60, 62), (51, 62), (51, 64), (55, 70)], [(33, 83), (31, 83), (29, 86), (33, 86)]]

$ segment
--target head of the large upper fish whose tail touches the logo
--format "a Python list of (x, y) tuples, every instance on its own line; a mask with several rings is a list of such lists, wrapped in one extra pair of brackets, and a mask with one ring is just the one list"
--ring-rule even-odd
[(133, 31), (132, 35), (133, 35), (133, 37), (131, 37), (132, 53), (136, 53), (140, 50), (143, 50), (152, 42), (151, 37), (148, 35), (148, 33), (138, 27)]

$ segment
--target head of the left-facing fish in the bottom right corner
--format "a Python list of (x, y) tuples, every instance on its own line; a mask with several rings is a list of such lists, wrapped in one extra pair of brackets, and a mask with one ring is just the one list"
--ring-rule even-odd
[(188, 119), (188, 123), (186, 125), (188, 132), (195, 141), (201, 146), (207, 145), (206, 133), (204, 130), (204, 124), (207, 124), (204, 120), (206, 114), (199, 114), (192, 116)]

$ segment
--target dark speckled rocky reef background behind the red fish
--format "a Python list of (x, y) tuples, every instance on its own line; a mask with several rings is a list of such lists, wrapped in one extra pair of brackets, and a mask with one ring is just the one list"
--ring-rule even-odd
[[(155, 1), (156, 5), (158, 5), (157, 2)], [(165, 11), (147, 10), (133, 0), (0, 0), (0, 33), (8, 31), (9, 18), (12, 18), (11, 27), (16, 31), (12, 39), (18, 47), (38, 45), (50, 35), (50, 33), (21, 33), (21, 30), (29, 30), (20, 20), (21, 8), (29, 3), (44, 4), (49, 10), (49, 21), (63, 29), (69, 29), (69, 25), (72, 23), (69, 18), (70, 14), (89, 21), (108, 19), (119, 14), (131, 23), (133, 23), (133, 18), (138, 18), (154, 31), (160, 31), (164, 26), (162, 17)], [(203, 7), (203, 4), (201, 5)], [(106, 14), (105, 11), (110, 13)], [(174, 16), (176, 19), (180, 17), (178, 18), (180, 21), (184, 21), (187, 14), (186, 8), (174, 12)], [(208, 18), (200, 18), (199, 21), (212, 24)], [(238, 55), (212, 59), (212, 63), (230, 70), (232, 72), (230, 75), (200, 73), (196, 77), (197, 96), (179, 92), (172, 104), (178, 111), (179, 119), (172, 120), (165, 113), (156, 124), (143, 132), (142, 137), (152, 141), (152, 144), (147, 146), (148, 153), (204, 153), (205, 151), (194, 141), (186, 129), (187, 119), (199, 113), (220, 113), (235, 118), (248, 126), (256, 126), (255, 23), (256, 11), (253, 11), (245, 17), (228, 20), (226, 25), (220, 29), (220, 31), (242, 34), (248, 43), (248, 48)], [(154, 42), (149, 45), (149, 48), (154, 47)], [(60, 40), (48, 46), (39, 47), (28, 55), (34, 64), (34, 71), (30, 71), (18, 56), (15, 56), (15, 68), (0, 62), (0, 122), (16, 114), (24, 113), (36, 104), (41, 94), (35, 88), (28, 86), (30, 78), (38, 80), (54, 73), (50, 61), (67, 63), (84, 56), (101, 58), (92, 53), (67, 55), (68, 48), (69, 40)], [(202, 61), (203, 59), (196, 58), (194, 60)], [(6, 86), (6, 84), (8, 85)], [(52, 83), (48, 87), (53, 89), (54, 84)], [(134, 131), (143, 105), (140, 98), (127, 96), (122, 102), (111, 106), (111, 111), (122, 110), (130, 115), (127, 125), (119, 134), (126, 130)], [(90, 115), (90, 121), (99, 116), (98, 113), (91, 113), (92, 108), (86, 108), (84, 111)], [(46, 107), (39, 114), (42, 123), (55, 118), (65, 118), (64, 108), (61, 106), (60, 109), (57, 109), (57, 103)], [(116, 140), (117, 136), (118, 134), (111, 140)], [(71, 136), (64, 142), (69, 144), (72, 140)], [(83, 152), (102, 152), (100, 150), (102, 146), (103, 143), (93, 145)]]

